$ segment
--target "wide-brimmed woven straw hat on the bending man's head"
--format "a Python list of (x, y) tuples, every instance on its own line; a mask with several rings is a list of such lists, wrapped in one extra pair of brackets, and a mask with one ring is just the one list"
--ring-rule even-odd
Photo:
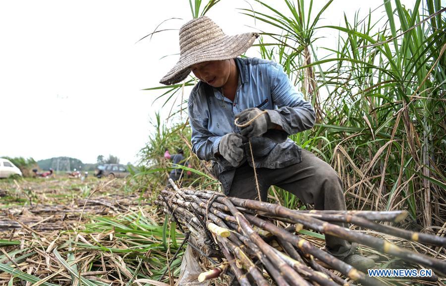
[(251, 47), (258, 36), (257, 33), (228, 36), (206, 16), (193, 19), (181, 27), (180, 58), (160, 83), (170, 85), (182, 81), (189, 75), (192, 64), (238, 57)]

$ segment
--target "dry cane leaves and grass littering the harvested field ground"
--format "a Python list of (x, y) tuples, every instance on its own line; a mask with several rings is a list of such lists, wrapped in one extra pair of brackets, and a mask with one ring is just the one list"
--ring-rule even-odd
[[(150, 204), (154, 194), (139, 193), (124, 179), (0, 180), (0, 196), (0, 285), (78, 285), (79, 279), (87, 286), (149, 285), (167, 268), (183, 237)], [(305, 231), (302, 237), (324, 247), (321, 234)], [(446, 259), (442, 247), (367, 233)], [(360, 251), (374, 256), (379, 268), (408, 266), (368, 247)], [(170, 269), (171, 282), (180, 259)], [(418, 285), (442, 283), (444, 279)]]

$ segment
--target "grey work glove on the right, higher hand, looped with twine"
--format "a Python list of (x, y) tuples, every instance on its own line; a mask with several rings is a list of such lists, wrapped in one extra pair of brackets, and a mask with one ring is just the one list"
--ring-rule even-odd
[[(255, 118), (257, 115), (259, 116)], [(240, 125), (243, 125), (244, 123), (247, 123), (255, 118), (249, 125), (239, 127), (240, 134), (248, 138), (260, 137), (265, 134), (268, 129), (272, 129), (275, 126), (275, 124), (270, 120), (270, 115), (256, 107), (245, 109), (241, 113), (235, 115), (235, 118), (237, 119), (237, 123)]]

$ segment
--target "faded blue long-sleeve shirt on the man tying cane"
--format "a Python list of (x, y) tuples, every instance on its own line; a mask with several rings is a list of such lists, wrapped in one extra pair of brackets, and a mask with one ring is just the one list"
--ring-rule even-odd
[[(262, 137), (251, 138), (256, 168), (283, 168), (301, 161), (300, 148), (289, 138), (314, 125), (311, 104), (295, 90), (282, 67), (260, 58), (235, 58), (239, 82), (234, 101), (223, 96), (220, 88), (199, 81), (189, 97), (189, 121), (192, 127), (192, 151), (198, 158), (216, 161), (219, 179), (226, 192), (232, 183), (235, 168), (218, 155), (222, 136), (240, 133), (234, 117), (245, 109), (266, 110), (273, 123), (283, 131), (269, 130)], [(244, 159), (252, 165), (249, 146), (245, 144)]]

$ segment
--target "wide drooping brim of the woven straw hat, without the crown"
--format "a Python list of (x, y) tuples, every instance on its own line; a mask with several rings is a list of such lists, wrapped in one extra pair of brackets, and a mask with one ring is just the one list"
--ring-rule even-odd
[(252, 46), (258, 36), (257, 33), (224, 36), (200, 50), (184, 53), (175, 66), (160, 80), (160, 83), (171, 85), (184, 80), (190, 73), (189, 67), (195, 63), (238, 57)]

